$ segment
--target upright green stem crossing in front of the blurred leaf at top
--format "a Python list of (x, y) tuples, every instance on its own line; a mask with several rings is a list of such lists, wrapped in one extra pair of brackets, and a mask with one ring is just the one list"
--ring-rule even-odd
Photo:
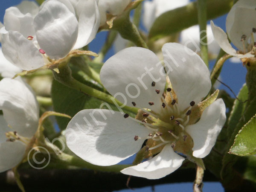
[(200, 28), (200, 47), (201, 58), (209, 67), (208, 62), (208, 47), (207, 47), (207, 4), (206, 0), (198, 0), (198, 24)]

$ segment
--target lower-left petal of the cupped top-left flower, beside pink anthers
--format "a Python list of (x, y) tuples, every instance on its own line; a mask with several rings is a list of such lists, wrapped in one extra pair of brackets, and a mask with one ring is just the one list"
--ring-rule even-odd
[(10, 31), (2, 35), (2, 51), (8, 61), (23, 70), (44, 66), (44, 59), (39, 50), (19, 32)]

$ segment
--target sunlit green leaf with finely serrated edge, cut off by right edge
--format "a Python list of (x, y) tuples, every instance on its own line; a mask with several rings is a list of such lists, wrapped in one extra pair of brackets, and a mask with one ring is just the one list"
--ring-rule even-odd
[(239, 156), (256, 154), (256, 115), (236, 135), (229, 153)]

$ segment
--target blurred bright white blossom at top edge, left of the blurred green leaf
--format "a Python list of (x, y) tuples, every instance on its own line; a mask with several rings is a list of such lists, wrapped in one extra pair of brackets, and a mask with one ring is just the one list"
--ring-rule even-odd
[(149, 30), (154, 20), (172, 9), (185, 6), (189, 0), (152, 0), (145, 1), (143, 5), (143, 24)]

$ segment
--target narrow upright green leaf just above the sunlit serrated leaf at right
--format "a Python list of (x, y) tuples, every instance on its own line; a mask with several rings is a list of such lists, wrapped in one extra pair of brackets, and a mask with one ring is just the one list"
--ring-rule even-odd
[(231, 135), (233, 130), (236, 128), (236, 124), (239, 122), (239, 119), (244, 113), (246, 107), (246, 100), (248, 99), (248, 87), (246, 84), (243, 85), (239, 94), (238, 99), (235, 100), (230, 117), (228, 119), (227, 135)]

